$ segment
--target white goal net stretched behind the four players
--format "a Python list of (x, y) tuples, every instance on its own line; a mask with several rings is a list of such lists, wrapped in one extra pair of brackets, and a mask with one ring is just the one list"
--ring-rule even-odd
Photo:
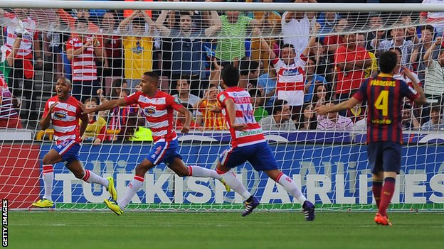
[[(215, 169), (230, 133), (209, 110), (221, 91), (221, 68), (234, 65), (280, 170), (307, 199), (320, 209), (374, 209), (366, 105), (328, 116), (313, 109), (348, 99), (378, 74), (385, 50), (398, 54), (397, 77), (411, 82), (404, 71), (413, 72), (429, 102), (403, 104), (401, 172), (391, 209), (444, 208), (444, 12), (387, 12), (384, 5), (344, 12), (322, 4), (306, 12), (300, 3), (249, 4), (267, 9), (248, 11), (234, 2), (169, 2), (172, 7), (162, 11), (149, 1), (125, 2), (128, 9), (121, 8), (123, 2), (110, 7), (107, 1), (85, 1), (73, 9), (60, 2), (53, 1), (54, 9), (1, 9), (0, 197), (12, 208), (26, 209), (43, 196), (42, 159), (56, 143), (52, 126), (41, 131), (38, 121), (57, 94), (58, 79), (70, 79), (71, 94), (95, 106), (139, 91), (142, 74), (156, 72), (159, 89), (193, 114), (188, 134), (180, 133), (184, 118), (174, 114), (184, 162)], [(127, 106), (89, 116), (80, 161), (97, 175), (114, 177), (119, 195), (152, 147), (153, 131), (143, 115)], [(300, 209), (248, 162), (233, 172), (260, 199), (259, 209)], [(58, 163), (51, 197), (57, 209), (104, 209), (109, 194)], [(239, 210), (242, 203), (218, 180), (179, 177), (162, 164), (147, 172), (129, 209)]]

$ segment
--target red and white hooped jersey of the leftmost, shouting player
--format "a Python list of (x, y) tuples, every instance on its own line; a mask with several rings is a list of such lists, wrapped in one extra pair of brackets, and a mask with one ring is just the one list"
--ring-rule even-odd
[(67, 101), (62, 102), (58, 96), (53, 96), (46, 101), (43, 118), (48, 115), (49, 108), (56, 102), (59, 102), (53, 109), (51, 114), (51, 121), (54, 126), (54, 140), (58, 143), (64, 140), (75, 140), (80, 143), (80, 125), (79, 118), (82, 114), (82, 109), (79, 107), (79, 101), (73, 96), (70, 96)]

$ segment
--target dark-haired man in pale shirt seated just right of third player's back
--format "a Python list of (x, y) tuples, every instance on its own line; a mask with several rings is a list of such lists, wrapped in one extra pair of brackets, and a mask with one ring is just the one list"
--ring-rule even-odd
[(290, 106), (283, 99), (276, 99), (273, 115), (260, 119), (258, 123), (265, 131), (296, 131), (295, 123), (291, 120)]

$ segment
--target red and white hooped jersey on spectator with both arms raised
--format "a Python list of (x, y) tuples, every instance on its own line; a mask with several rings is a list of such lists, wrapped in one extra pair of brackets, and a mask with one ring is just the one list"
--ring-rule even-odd
[(304, 104), (305, 64), (307, 57), (295, 57), (292, 65), (276, 58), (273, 65), (277, 73), (276, 92), (277, 99), (285, 99), (289, 106), (302, 106)]

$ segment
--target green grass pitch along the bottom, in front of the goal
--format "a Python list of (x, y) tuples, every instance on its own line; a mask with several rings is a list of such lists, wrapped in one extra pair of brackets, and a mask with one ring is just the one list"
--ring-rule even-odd
[(10, 211), (8, 248), (442, 248), (444, 214)]

